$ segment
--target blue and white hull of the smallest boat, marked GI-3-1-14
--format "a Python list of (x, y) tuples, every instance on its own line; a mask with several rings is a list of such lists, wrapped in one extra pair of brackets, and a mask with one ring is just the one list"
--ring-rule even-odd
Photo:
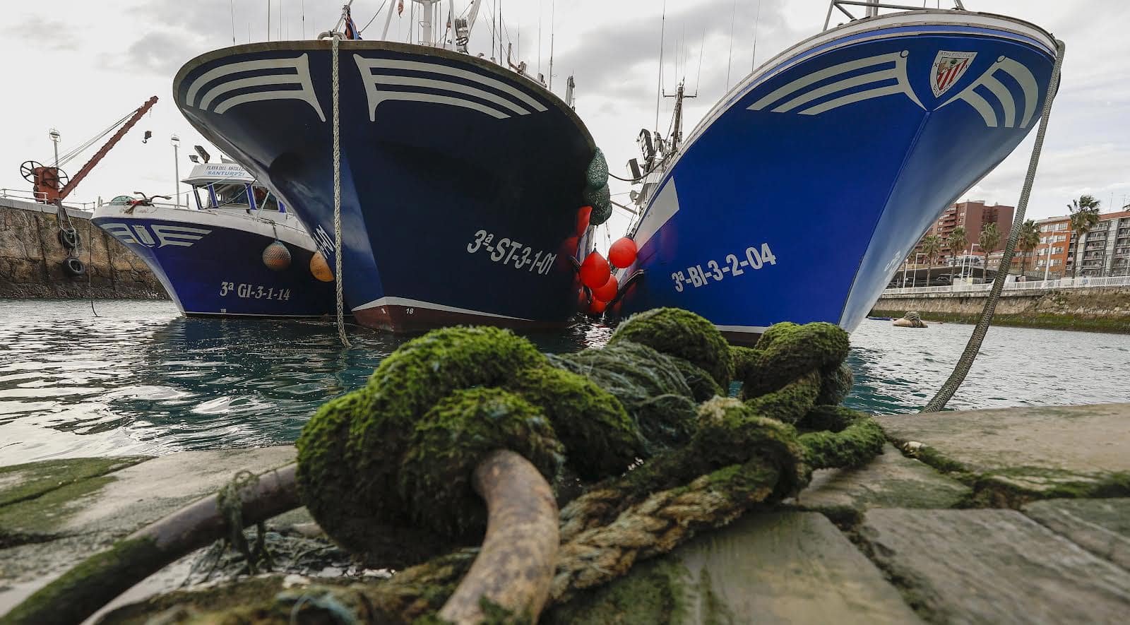
[[(312, 318), (334, 311), (333, 283), (311, 272), (316, 248), (293, 215), (106, 203), (93, 222), (145, 261), (184, 315)], [(290, 252), (280, 271), (262, 258), (275, 241)]]

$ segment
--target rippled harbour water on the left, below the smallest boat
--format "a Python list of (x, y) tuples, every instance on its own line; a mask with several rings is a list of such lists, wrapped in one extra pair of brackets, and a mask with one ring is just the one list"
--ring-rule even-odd
[[(185, 319), (169, 302), (0, 301), (0, 465), (289, 443), (405, 337), (332, 323)], [(528, 335), (546, 351), (610, 329)]]

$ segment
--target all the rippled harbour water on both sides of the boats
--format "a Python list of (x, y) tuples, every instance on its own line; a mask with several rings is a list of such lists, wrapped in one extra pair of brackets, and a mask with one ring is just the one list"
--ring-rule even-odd
[[(184, 319), (159, 301), (0, 301), (0, 465), (293, 442), (356, 389), (397, 338), (331, 323)], [(914, 413), (972, 325), (866, 321), (852, 335), (854, 408)], [(532, 333), (545, 351), (600, 346), (602, 324)], [(954, 409), (1130, 401), (1130, 336), (993, 328)]]

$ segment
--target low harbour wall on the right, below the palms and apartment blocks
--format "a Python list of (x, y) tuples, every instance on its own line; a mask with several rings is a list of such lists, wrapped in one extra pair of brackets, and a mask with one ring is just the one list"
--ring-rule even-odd
[[(871, 314), (918, 311), (927, 320), (974, 323), (988, 296), (986, 290), (885, 294)], [(1130, 287), (1005, 290), (993, 324), (1130, 333)]]

